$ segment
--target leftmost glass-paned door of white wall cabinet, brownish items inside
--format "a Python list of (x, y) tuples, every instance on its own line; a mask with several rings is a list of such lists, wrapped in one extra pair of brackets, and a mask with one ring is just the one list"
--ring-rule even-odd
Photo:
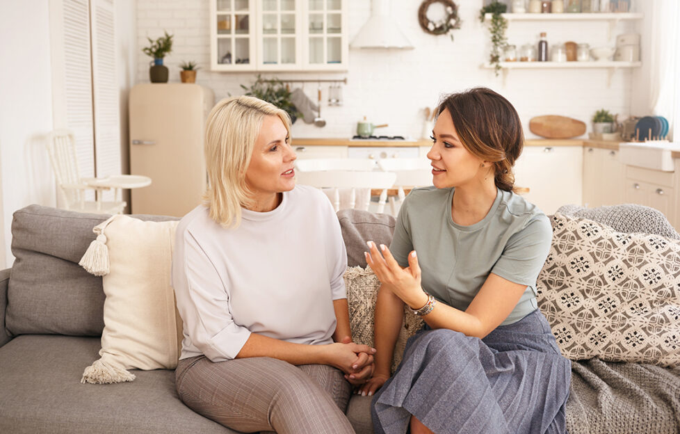
[(252, 69), (251, 0), (212, 0), (215, 3), (213, 26), (213, 68), (218, 70)]

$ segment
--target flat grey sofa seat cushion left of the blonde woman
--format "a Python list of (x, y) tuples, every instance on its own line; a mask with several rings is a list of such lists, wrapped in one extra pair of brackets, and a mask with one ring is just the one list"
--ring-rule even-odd
[(0, 348), (0, 433), (235, 433), (179, 401), (175, 371), (132, 383), (82, 385), (99, 339), (15, 337)]

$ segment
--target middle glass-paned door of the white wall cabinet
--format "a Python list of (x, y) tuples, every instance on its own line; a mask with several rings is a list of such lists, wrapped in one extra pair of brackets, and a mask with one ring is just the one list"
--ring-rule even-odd
[(300, 65), (296, 0), (259, 0), (259, 66), (264, 70)]

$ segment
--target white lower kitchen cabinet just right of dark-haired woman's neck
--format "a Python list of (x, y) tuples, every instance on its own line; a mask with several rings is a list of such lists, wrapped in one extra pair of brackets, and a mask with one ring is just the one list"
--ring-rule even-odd
[(515, 186), (527, 187), (523, 196), (545, 214), (583, 198), (583, 147), (528, 146), (515, 163)]

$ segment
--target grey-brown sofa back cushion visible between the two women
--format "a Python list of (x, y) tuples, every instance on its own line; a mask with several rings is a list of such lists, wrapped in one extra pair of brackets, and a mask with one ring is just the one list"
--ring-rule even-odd
[(389, 246), (394, 234), (394, 217), (360, 209), (341, 209), (337, 213), (347, 250), (347, 266), (366, 266), (366, 242)]

